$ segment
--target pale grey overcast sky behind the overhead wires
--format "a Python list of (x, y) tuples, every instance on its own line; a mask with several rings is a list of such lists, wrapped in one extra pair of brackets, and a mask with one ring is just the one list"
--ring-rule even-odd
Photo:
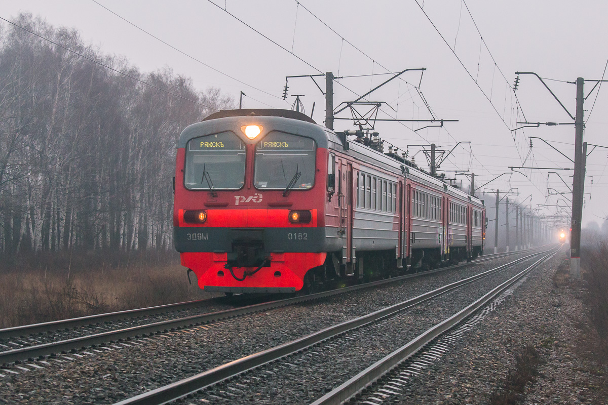
[[(311, 114), (316, 103), (313, 118), (317, 123), (324, 120), (323, 95), (311, 79), (293, 79), (289, 80), (287, 101), (283, 101), (286, 76), (331, 71), (345, 77), (334, 84), (337, 106), (390, 77), (378, 73), (425, 67), (422, 78), (420, 72), (406, 72), (402, 80), (393, 80), (370, 95), (371, 101), (389, 103), (378, 118), (432, 118), (418, 87), (436, 118), (459, 121), (417, 132), (413, 129), (427, 123), (382, 122), (376, 123), (376, 131), (399, 149), (432, 142), (452, 149), (457, 141), (471, 141), (470, 148), (468, 144), (458, 146), (440, 172), (448, 171), (449, 177), (454, 177), (454, 170), (474, 172), (477, 186), (510, 172), (508, 166), (573, 168), (567, 158), (541, 140), (534, 139), (530, 149), (528, 139), (533, 136), (554, 142), (553, 146), (572, 157), (573, 125), (510, 131), (520, 126), (517, 120), (523, 121), (509, 88), (517, 70), (551, 79), (546, 83), (575, 115), (576, 86), (565, 81), (600, 79), (608, 58), (608, 2), (601, 0), (303, 0), (300, 4), (295, 0), (214, 0), (219, 7), (208, 0), (97, 1), (99, 4), (92, 0), (2, 0), (0, 16), (10, 19), (30, 12), (55, 27), (77, 29), (85, 43), (104, 53), (124, 56), (144, 72), (168, 67), (192, 78), (200, 90), (221, 88), (237, 103), (242, 90), (246, 108), (291, 108), (291, 95), (303, 94), (306, 114)], [(371, 73), (375, 75), (369, 76)], [(366, 76), (347, 78), (356, 75)], [(318, 78), (318, 83), (324, 89), (323, 78)], [(585, 84), (585, 95), (592, 87), (593, 83)], [(522, 75), (516, 94), (528, 121), (572, 122), (537, 78)], [(604, 129), (608, 123), (608, 83), (600, 87), (597, 100), (596, 95), (598, 88), (585, 104), (585, 119), (589, 118), (585, 141), (608, 146)], [(349, 116), (348, 110), (339, 114)], [(354, 127), (349, 121), (336, 121), (335, 129)], [(412, 146), (409, 154), (418, 150), (420, 147)], [(415, 157), (416, 163), (426, 166), (421, 152)], [(608, 149), (598, 148), (587, 158), (585, 191), (590, 194), (585, 196), (583, 223), (601, 223), (600, 218), (608, 215), (607, 157)], [(565, 200), (569, 195), (547, 196), (548, 188), (568, 191), (557, 175), (547, 170), (519, 172), (502, 175), (484, 189), (517, 188), (519, 196), (511, 198), (524, 200), (531, 195), (525, 205), (533, 208), (537, 204), (570, 205)], [(572, 183), (569, 176), (573, 171), (557, 172), (566, 183)], [(468, 178), (458, 174), (457, 179), (467, 191)], [(486, 199), (486, 206), (494, 206), (494, 201)], [(555, 209), (542, 208), (539, 213), (551, 215)]]

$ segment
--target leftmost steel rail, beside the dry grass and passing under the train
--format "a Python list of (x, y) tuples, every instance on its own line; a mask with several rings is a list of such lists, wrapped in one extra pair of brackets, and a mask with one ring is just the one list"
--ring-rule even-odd
[[(534, 250), (534, 249), (531, 249), (531, 250)], [(405, 276), (393, 277), (392, 279), (380, 280), (380, 281), (375, 281), (375, 282), (371, 282), (371, 283), (352, 286), (354, 288), (347, 287), (347, 288), (342, 288), (342, 289), (333, 290), (333, 291), (339, 291), (340, 293), (342, 293), (342, 292), (352, 291), (353, 289), (359, 289), (359, 288), (365, 288), (365, 287), (375, 287), (376, 285), (385, 284), (387, 282), (399, 281), (401, 279), (417, 277), (417, 276), (421, 276), (423, 274), (437, 273), (438, 271), (451, 270), (454, 268), (463, 267), (465, 265), (482, 263), (487, 260), (499, 259), (500, 257), (510, 256), (510, 255), (522, 253), (522, 252), (525, 252), (525, 250), (508, 252), (508, 253), (489, 254), (489, 255), (483, 256), (480, 259), (472, 260), (471, 262), (468, 262), (468, 263), (461, 263), (461, 264), (453, 265), (453, 266), (449, 266), (449, 267), (442, 267), (442, 268), (438, 268), (435, 270), (424, 271), (421, 273), (406, 274)], [(319, 294), (323, 294), (323, 293), (310, 294), (308, 297), (310, 299), (324, 297)], [(232, 300), (234, 300), (234, 299), (235, 298), (232, 298)], [(81, 316), (79, 318), (60, 319), (58, 321), (41, 322), (39, 324), (30, 324), (30, 325), (21, 325), (21, 326), (15, 326), (15, 327), (10, 327), (10, 328), (2, 328), (2, 329), (0, 329), (0, 339), (10, 339), (10, 338), (16, 338), (16, 337), (26, 336), (26, 335), (35, 335), (36, 333), (53, 332), (55, 330), (61, 330), (61, 329), (65, 329), (65, 328), (91, 326), (91, 325), (100, 324), (103, 322), (123, 321), (123, 320), (127, 320), (130, 318), (136, 318), (138, 316), (140, 317), (140, 316), (159, 315), (161, 313), (198, 308), (198, 307), (201, 307), (202, 305), (206, 305), (206, 304), (222, 303), (223, 301), (227, 301), (227, 300), (228, 299), (226, 297), (215, 297), (215, 298), (209, 298), (209, 299), (199, 299), (196, 301), (178, 302), (176, 304), (158, 305), (156, 307), (137, 308), (134, 310), (116, 311), (116, 312), (102, 313), (102, 314), (97, 314), (97, 315)], [(278, 301), (280, 301), (280, 300), (278, 300)], [(232, 302), (234, 302), (234, 301), (232, 301)]]

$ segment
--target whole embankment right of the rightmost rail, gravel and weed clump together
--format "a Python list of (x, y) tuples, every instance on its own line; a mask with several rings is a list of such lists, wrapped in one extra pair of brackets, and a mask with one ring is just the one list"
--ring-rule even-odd
[(589, 317), (593, 298), (567, 272), (564, 253), (539, 267), (449, 355), (386, 402), (607, 404), (606, 343)]

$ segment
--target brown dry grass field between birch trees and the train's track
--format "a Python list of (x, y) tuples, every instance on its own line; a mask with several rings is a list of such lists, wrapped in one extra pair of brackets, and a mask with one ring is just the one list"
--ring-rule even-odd
[[(71, 256), (71, 257), (70, 257)], [(0, 328), (209, 298), (173, 252), (46, 254), (0, 271)]]

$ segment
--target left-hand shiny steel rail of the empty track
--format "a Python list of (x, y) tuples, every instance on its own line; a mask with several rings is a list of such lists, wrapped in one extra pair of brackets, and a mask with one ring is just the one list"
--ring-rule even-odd
[(412, 307), (413, 305), (418, 305), (421, 302), (435, 298), (441, 294), (446, 293), (447, 291), (454, 290), (454, 288), (461, 287), (462, 285), (474, 282), (477, 279), (489, 276), (490, 274), (496, 273), (497, 271), (511, 267), (519, 262), (522, 262), (523, 260), (528, 260), (531, 257), (537, 256), (539, 254), (545, 254), (548, 251), (553, 250), (554, 248), (551, 248), (550, 250), (533, 253), (525, 257), (520, 257), (519, 259), (516, 259), (508, 264), (504, 264), (491, 270), (484, 271), (483, 273), (475, 274), (475, 276), (471, 276), (466, 279), (462, 279), (460, 281), (444, 285), (443, 287), (436, 288), (435, 290), (429, 291), (424, 294), (420, 294), (415, 298), (399, 302), (399, 304), (390, 305), (389, 307), (382, 308), (359, 318), (351, 319), (350, 321), (345, 321), (340, 324), (333, 325), (318, 332), (312, 333), (311, 335), (303, 336), (302, 338), (295, 339), (291, 342), (286, 342), (276, 347), (272, 347), (271, 349), (266, 349), (262, 352), (254, 353), (252, 355), (227, 362), (226, 364), (223, 364), (221, 366), (215, 367), (197, 375), (190, 376), (180, 381), (176, 381), (175, 383), (168, 384), (167, 386), (150, 390), (148, 392), (134, 396), (133, 398), (128, 398), (114, 405), (161, 405), (174, 400), (178, 400), (179, 398), (182, 398), (186, 395), (195, 393), (206, 387), (218, 384), (221, 381), (224, 381), (225, 379), (233, 378), (238, 374), (247, 372), (251, 369), (255, 369), (256, 367), (259, 367), (268, 362), (272, 362), (284, 356), (291, 355), (292, 353), (299, 352), (300, 350), (318, 344), (319, 342), (322, 342), (325, 339), (333, 338), (334, 336), (348, 332), (355, 328), (362, 327), (363, 325), (369, 324), (370, 322), (378, 321), (378, 319), (390, 316), (393, 313), (403, 310), (404, 308)]

